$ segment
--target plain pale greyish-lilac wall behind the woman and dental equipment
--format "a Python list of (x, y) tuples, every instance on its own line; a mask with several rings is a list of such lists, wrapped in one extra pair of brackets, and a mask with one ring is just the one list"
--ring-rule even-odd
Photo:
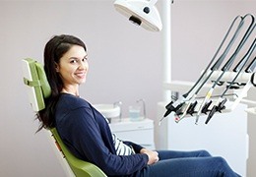
[[(53, 34), (74, 34), (88, 45), (91, 68), (80, 90), (83, 97), (93, 103), (121, 100), (124, 115), (129, 104), (144, 98), (149, 117), (155, 119), (161, 99), (161, 33), (131, 25), (112, 3), (0, 1), (0, 176), (63, 176), (47, 138), (34, 135), (37, 122), (21, 70), (23, 58), (42, 61), (43, 46)], [(255, 7), (254, 0), (174, 0), (172, 78), (194, 81), (230, 21), (237, 14), (255, 13)]]

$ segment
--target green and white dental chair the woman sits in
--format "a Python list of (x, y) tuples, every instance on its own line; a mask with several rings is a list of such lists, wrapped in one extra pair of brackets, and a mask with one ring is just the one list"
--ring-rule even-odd
[[(50, 96), (51, 89), (47, 82), (43, 66), (33, 59), (23, 60), (24, 84), (28, 88), (30, 102), (33, 111), (42, 110), (44, 98)], [(77, 177), (105, 177), (106, 175), (93, 163), (75, 157), (63, 144), (56, 128), (46, 130), (49, 133), (51, 142), (55, 144), (55, 151), (58, 157), (61, 156), (61, 163), (68, 176)]]

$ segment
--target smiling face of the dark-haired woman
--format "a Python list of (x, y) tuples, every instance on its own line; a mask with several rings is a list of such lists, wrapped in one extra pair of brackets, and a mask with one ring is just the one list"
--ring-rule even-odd
[(56, 71), (64, 84), (64, 88), (78, 87), (86, 82), (89, 69), (87, 52), (80, 45), (73, 45), (56, 64)]

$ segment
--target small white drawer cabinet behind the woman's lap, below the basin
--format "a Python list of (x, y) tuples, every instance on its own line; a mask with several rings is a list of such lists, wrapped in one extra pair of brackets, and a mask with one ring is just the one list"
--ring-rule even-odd
[(122, 119), (121, 122), (109, 124), (112, 133), (120, 140), (131, 141), (145, 148), (155, 149), (154, 143), (154, 121), (144, 119), (141, 121), (130, 121)]

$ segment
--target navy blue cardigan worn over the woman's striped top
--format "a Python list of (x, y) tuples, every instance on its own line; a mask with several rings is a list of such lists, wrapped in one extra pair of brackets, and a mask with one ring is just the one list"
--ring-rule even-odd
[(63, 143), (80, 159), (98, 166), (107, 176), (139, 176), (147, 154), (132, 142), (133, 155), (116, 155), (112, 133), (104, 117), (85, 99), (62, 93), (55, 109), (56, 129)]

